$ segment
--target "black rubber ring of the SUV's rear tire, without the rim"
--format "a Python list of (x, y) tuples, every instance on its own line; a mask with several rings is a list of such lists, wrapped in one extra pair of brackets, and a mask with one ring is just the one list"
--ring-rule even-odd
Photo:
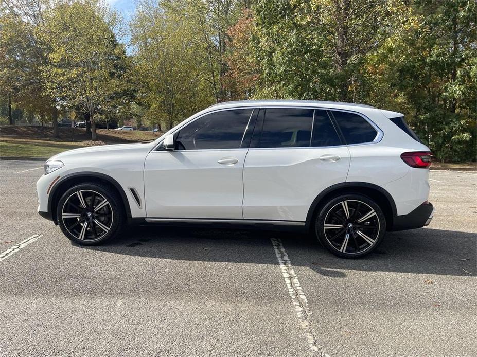
[[(339, 252), (339, 251), (337, 251), (337, 249), (335, 249), (331, 245), (331, 243), (328, 242), (328, 240), (325, 237), (325, 233), (324, 233), (324, 230), (323, 230), (323, 225), (324, 225), (325, 218), (326, 218), (326, 215), (327, 215), (328, 211), (333, 206), (335, 206), (336, 204), (338, 204), (342, 201), (345, 201), (345, 200), (356, 200), (356, 201), (362, 201), (362, 202), (366, 203), (367, 205), (369, 205), (371, 208), (373, 208), (375, 210), (376, 216), (379, 219), (379, 235), (376, 238), (376, 243), (364, 252), (356, 253), (356, 254), (349, 254), (349, 253)], [(363, 195), (363, 194), (349, 193), (349, 194), (343, 194), (343, 195), (339, 195), (337, 197), (334, 197), (331, 200), (329, 200), (323, 207), (321, 207), (321, 209), (319, 210), (319, 212), (318, 212), (318, 214), (316, 215), (316, 218), (315, 218), (314, 229), (315, 229), (316, 238), (319, 240), (319, 242), (322, 245), (324, 245), (334, 255), (337, 255), (337, 256), (342, 257), (342, 258), (350, 258), (350, 259), (360, 258), (360, 257), (363, 257), (363, 256), (368, 255), (369, 253), (373, 252), (381, 244), (381, 242), (383, 240), (383, 237), (386, 233), (386, 218), (384, 216), (384, 213), (383, 213), (381, 207), (379, 207), (379, 205), (373, 199), (371, 199), (371, 198), (369, 198), (369, 197), (367, 197), (366, 195)]]

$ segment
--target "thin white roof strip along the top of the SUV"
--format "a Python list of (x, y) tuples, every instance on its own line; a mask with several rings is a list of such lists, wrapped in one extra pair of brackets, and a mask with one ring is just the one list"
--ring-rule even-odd
[(344, 103), (344, 102), (331, 102), (324, 100), (236, 100), (229, 102), (217, 103), (209, 106), (209, 108), (234, 108), (236, 106), (242, 105), (274, 105), (274, 106), (287, 106), (287, 105), (298, 105), (298, 106), (319, 106), (323, 108), (373, 108), (374, 106), (366, 104), (356, 104), (356, 103)]

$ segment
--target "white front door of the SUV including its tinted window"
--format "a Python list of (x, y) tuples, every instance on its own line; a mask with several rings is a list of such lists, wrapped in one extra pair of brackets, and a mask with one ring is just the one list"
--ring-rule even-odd
[(242, 219), (243, 164), (251, 136), (245, 134), (252, 113), (205, 114), (174, 133), (174, 151), (152, 151), (144, 168), (147, 217)]

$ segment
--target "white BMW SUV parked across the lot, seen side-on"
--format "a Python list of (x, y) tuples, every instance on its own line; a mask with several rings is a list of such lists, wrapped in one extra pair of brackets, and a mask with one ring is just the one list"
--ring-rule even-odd
[(372, 252), (429, 224), (431, 153), (403, 115), (320, 101), (210, 106), (149, 143), (51, 157), (38, 212), (79, 244), (125, 223), (290, 226), (330, 252)]

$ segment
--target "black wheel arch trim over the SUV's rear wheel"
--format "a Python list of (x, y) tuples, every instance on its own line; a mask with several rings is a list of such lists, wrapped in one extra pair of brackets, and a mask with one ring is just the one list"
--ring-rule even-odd
[(310, 209), (308, 210), (306, 217), (306, 228), (310, 229), (312, 227), (313, 217), (315, 217), (316, 212), (320, 209), (320, 207), (326, 204), (329, 199), (346, 193), (364, 194), (375, 200), (383, 210), (384, 216), (386, 217), (386, 226), (392, 227), (393, 217), (397, 216), (397, 209), (396, 203), (389, 192), (378, 185), (367, 182), (343, 182), (324, 189), (319, 195), (316, 196), (310, 206)]

